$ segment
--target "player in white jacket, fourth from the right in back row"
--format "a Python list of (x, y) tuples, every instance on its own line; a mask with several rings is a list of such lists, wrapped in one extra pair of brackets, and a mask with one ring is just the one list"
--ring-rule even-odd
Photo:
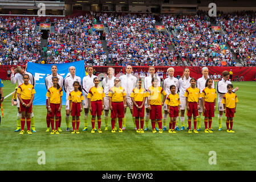
[[(164, 89), (164, 91), (166, 92), (167, 96), (169, 96), (170, 94), (170, 85), (175, 85), (176, 86), (176, 93), (178, 92), (178, 79), (175, 78), (174, 75), (174, 68), (170, 67), (167, 69), (167, 73), (168, 73), (168, 77), (164, 79), (164, 82), (162, 82), (162, 89)], [(166, 120), (168, 117), (168, 107), (166, 104), (164, 104), (164, 117), (162, 118), (164, 121), (164, 128), (162, 129), (162, 131), (166, 131)], [(180, 131), (180, 129), (178, 128), (176, 122), (176, 126), (175, 129), (177, 131)]]

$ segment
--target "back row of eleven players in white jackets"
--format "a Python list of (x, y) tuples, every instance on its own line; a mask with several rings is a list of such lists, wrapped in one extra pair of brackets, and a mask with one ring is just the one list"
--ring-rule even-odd
[[(74, 81), (78, 81), (81, 84), (81, 78), (79, 76), (75, 75), (75, 72), (76, 72), (75, 67), (69, 68), (70, 74), (68, 74), (68, 76), (65, 79), (63, 79), (63, 77), (60, 76), (57, 73), (57, 71), (58, 71), (58, 68), (56, 67), (56, 65), (52, 65), (51, 75), (48, 75), (45, 78), (46, 88), (48, 89), (53, 85), (52, 81), (51, 81), (52, 76), (57, 76), (59, 78), (59, 85), (61, 87), (64, 85), (63, 89), (66, 92), (66, 97), (68, 97), (69, 93), (72, 92), (72, 90), (74, 90), (74, 87), (73, 87)], [(131, 101), (130, 96), (131, 96), (133, 88), (135, 88), (137, 78), (132, 75), (132, 66), (131, 65), (128, 65), (126, 67), (125, 71), (126, 71), (126, 74), (120, 76), (119, 78), (121, 80), (121, 87), (123, 87), (127, 92), (127, 106), (129, 107), (129, 109), (131, 110), (131, 113), (132, 113), (133, 106), (132, 106), (132, 101)], [(84, 120), (85, 120), (84, 130), (87, 130), (87, 126), (88, 126), (87, 118), (88, 118), (88, 112), (89, 112), (89, 100), (87, 98), (87, 94), (88, 94), (90, 88), (92, 86), (94, 86), (93, 80), (96, 77), (95, 75), (92, 74), (93, 67), (91, 67), (91, 66), (87, 67), (87, 72), (88, 72), (88, 75), (83, 77), (83, 80), (82, 80), (82, 89), (83, 89), (83, 94), (84, 94), (84, 103), (83, 103)], [(159, 76), (155, 75), (155, 68), (149, 67), (148, 72), (149, 72), (149, 76), (145, 77), (145, 79), (144, 79), (144, 88), (149, 88), (152, 85), (151, 81), (152, 81), (153, 77), (157, 77), (157, 80), (159, 80), (158, 86), (161, 86), (161, 81), (160, 81), (161, 79)], [(185, 108), (186, 108), (184, 93), (185, 93), (186, 89), (189, 88), (190, 79), (191, 79), (191, 77), (189, 76), (189, 73), (190, 73), (189, 68), (184, 69), (184, 75), (179, 80), (173, 76), (174, 68), (168, 68), (167, 72), (168, 72), (168, 77), (165, 78), (165, 80), (163, 81), (162, 88), (165, 90), (167, 95), (170, 94), (170, 89), (169, 89), (170, 85), (175, 85), (176, 88), (178, 88), (178, 89), (176, 89), (176, 92), (178, 92), (178, 90), (179, 90), (179, 93), (180, 93), (180, 101), (181, 101), (180, 120), (181, 120), (181, 124), (182, 124), (182, 123), (184, 123), (184, 120), (185, 120), (184, 113), (185, 113)], [(26, 72), (24, 70), (22, 71), (22, 73), (17, 73), (15, 76), (14, 76), (14, 73), (12, 73), (11, 82), (13, 84), (15, 84), (18, 81), (18, 85), (21, 85), (23, 83), (22, 75), (25, 73), (30, 75), (30, 84), (35, 85), (34, 76), (31, 73)], [(105, 104), (104, 118), (105, 119), (108, 119), (108, 113), (109, 113), (108, 92), (109, 92), (109, 89), (111, 89), (114, 86), (114, 80), (116, 78), (113, 75), (114, 75), (113, 68), (108, 68), (108, 76), (105, 77), (102, 81), (102, 86), (104, 88), (104, 92), (105, 92), (105, 96), (106, 96), (104, 98), (104, 104)], [(202, 68), (202, 77), (198, 78), (198, 80), (197, 80), (197, 88), (200, 89), (200, 92), (202, 92), (202, 90), (205, 88), (205, 82), (206, 82), (207, 78), (209, 78), (208, 68), (204, 67), (204, 68)], [(229, 78), (228, 76), (223, 77), (222, 80), (218, 81), (218, 84), (217, 84), (219, 121), (222, 118), (223, 109), (224, 109), (223, 104), (221, 104), (221, 101), (222, 101), (224, 94), (227, 92), (227, 88), (226, 88), (227, 84), (231, 84), (231, 82), (228, 80), (228, 78)], [(213, 88), (214, 88), (214, 85), (213, 85)], [(238, 90), (238, 88), (235, 88), (234, 92), (237, 90)], [(67, 100), (67, 98), (66, 98), (66, 100)], [(19, 106), (19, 104), (17, 106)], [(145, 108), (146, 108), (145, 121), (147, 122), (147, 121), (149, 121), (149, 110), (147, 109), (147, 102), (145, 102)], [(70, 115), (69, 109), (70, 109), (69, 102), (67, 100), (67, 102), (66, 102), (66, 121), (69, 121), (69, 115)], [(163, 116), (163, 120), (165, 123), (165, 121), (168, 117), (166, 105), (164, 105), (164, 111), (165, 111), (165, 113)], [(125, 110), (125, 113), (126, 113), (126, 110)], [(201, 100), (200, 100), (199, 114), (200, 115), (198, 117), (201, 118), (201, 114), (202, 114), (202, 101)], [(133, 120), (135, 120), (135, 118), (133, 118)], [(123, 129), (125, 129), (125, 125), (124, 125)], [(166, 126), (164, 126), (164, 130), (165, 129), (166, 129)], [(182, 127), (181, 129), (183, 130), (184, 127)], [(180, 130), (178, 128), (178, 126), (176, 126), (176, 130)], [(221, 127), (219, 127), (219, 130), (221, 130)]]

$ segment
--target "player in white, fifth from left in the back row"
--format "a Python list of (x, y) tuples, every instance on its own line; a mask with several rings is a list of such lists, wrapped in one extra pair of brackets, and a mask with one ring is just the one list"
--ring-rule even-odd
[(114, 76), (114, 69), (113, 68), (108, 68), (108, 76), (105, 77), (102, 80), (102, 87), (105, 92), (105, 97), (104, 97), (104, 120), (105, 120), (105, 131), (108, 130), (108, 113), (109, 113), (109, 90), (115, 86), (115, 76)]

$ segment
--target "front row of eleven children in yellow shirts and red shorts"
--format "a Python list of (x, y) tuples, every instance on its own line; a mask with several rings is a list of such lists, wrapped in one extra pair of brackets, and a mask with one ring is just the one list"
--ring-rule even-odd
[[(35, 89), (34, 86), (29, 84), (29, 75), (23, 75), (24, 84), (19, 85), (17, 93), (18, 99), (21, 105), (22, 119), (21, 119), (21, 133), (24, 134), (25, 121), (27, 120), (27, 133), (32, 134), (30, 131), (30, 113), (32, 112), (32, 101), (34, 100)], [(139, 78), (136, 84), (136, 88), (132, 90), (131, 98), (133, 102), (133, 117), (135, 117), (137, 133), (144, 133), (144, 113), (145, 113), (145, 101), (148, 97), (148, 109), (150, 110), (150, 119), (152, 123), (152, 132), (156, 131), (156, 122), (159, 125), (159, 133), (162, 133), (162, 106), (165, 104), (168, 106), (168, 113), (170, 117), (169, 122), (169, 133), (176, 133), (174, 127), (176, 125), (176, 118), (178, 113), (180, 113), (180, 97), (176, 93), (176, 86), (170, 86), (170, 94), (166, 98), (165, 91), (157, 86), (157, 78), (152, 78), (152, 86), (148, 88), (148, 91), (141, 87), (142, 80)], [(46, 96), (48, 97), (48, 113), (51, 117), (51, 134), (59, 134), (58, 132), (58, 119), (60, 117), (60, 111), (62, 109), (62, 95), (63, 90), (58, 84), (58, 77), (52, 77), (53, 86), (47, 90)], [(104, 110), (104, 89), (99, 86), (99, 79), (94, 78), (95, 86), (92, 86), (88, 92), (87, 98), (90, 99), (90, 111), (92, 114), (92, 131), (95, 133), (98, 131), (102, 133), (101, 126), (101, 114)], [(200, 89), (196, 87), (196, 79), (190, 79), (190, 87), (186, 89), (184, 96), (186, 97), (186, 109), (188, 116), (188, 133), (192, 133), (192, 117), (194, 122), (194, 133), (197, 131), (197, 115), (199, 109), (199, 98), (202, 97), (203, 102), (203, 113), (205, 121), (205, 133), (213, 133), (212, 130), (212, 118), (214, 117), (214, 111), (216, 110), (216, 89), (212, 88), (214, 84), (212, 78), (206, 80), (205, 89), (202, 90), (200, 94)], [(72, 115), (72, 134), (79, 133), (79, 123), (80, 123), (80, 113), (83, 108), (83, 93), (81, 85), (78, 81), (74, 81), (74, 91), (72, 91), (68, 100), (70, 102), (70, 113)], [(236, 106), (238, 102), (237, 95), (232, 92), (233, 85), (227, 85), (228, 92), (224, 95), (222, 99), (222, 104), (224, 104), (224, 112), (226, 112), (226, 125), (227, 132), (234, 133), (233, 131), (233, 118), (236, 111)], [(115, 133), (115, 119), (119, 120), (119, 133), (122, 133), (122, 119), (124, 118), (124, 108), (127, 106), (126, 102), (126, 92), (124, 88), (120, 86), (120, 78), (115, 78), (115, 86), (109, 90), (109, 107), (111, 109), (111, 125), (112, 133)], [(162, 97), (163, 96), (163, 97)], [(165, 100), (166, 98), (166, 100)], [(97, 130), (95, 129), (95, 119), (97, 115)], [(54, 128), (54, 118), (55, 118), (55, 128)], [(139, 125), (140, 123), (140, 125)], [(76, 125), (76, 127), (75, 127)]]

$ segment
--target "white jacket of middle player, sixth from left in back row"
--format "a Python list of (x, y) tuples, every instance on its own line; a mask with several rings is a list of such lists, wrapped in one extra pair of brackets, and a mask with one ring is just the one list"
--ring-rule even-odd
[(137, 78), (131, 74), (122, 75), (119, 78), (121, 81), (121, 87), (126, 91), (126, 97), (130, 97), (132, 90), (136, 86)]

